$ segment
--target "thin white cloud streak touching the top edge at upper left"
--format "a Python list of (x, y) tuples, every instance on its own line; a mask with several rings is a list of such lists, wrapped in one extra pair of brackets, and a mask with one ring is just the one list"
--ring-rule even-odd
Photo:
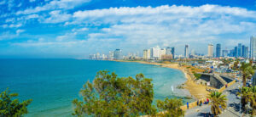
[(20, 10), (16, 14), (34, 14), (42, 11), (49, 11), (54, 9), (72, 9), (80, 6), (83, 3), (89, 3), (90, 0), (53, 0), (46, 3), (44, 6), (38, 6), (36, 8), (27, 8)]

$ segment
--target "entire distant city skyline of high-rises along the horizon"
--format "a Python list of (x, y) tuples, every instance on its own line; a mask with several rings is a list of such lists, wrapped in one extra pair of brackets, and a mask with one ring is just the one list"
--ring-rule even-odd
[(256, 36), (250, 37), (250, 46), (238, 43), (237, 46), (227, 49), (222, 47), (220, 43), (214, 46), (209, 43), (207, 46), (207, 54), (196, 53), (195, 49), (192, 48), (191, 53), (189, 52), (189, 44), (184, 47), (184, 54), (175, 55), (175, 47), (164, 47), (159, 46), (151, 47), (143, 50), (143, 56), (141, 57), (139, 52), (128, 53), (127, 56), (122, 54), (121, 49), (115, 49), (107, 54), (96, 53), (90, 55), (91, 59), (144, 59), (144, 60), (171, 60), (175, 58), (256, 58)]

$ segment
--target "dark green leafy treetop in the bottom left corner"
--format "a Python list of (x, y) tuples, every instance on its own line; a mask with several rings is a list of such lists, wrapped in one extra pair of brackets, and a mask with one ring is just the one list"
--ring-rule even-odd
[(20, 117), (23, 114), (27, 114), (26, 107), (32, 102), (32, 99), (26, 100), (22, 103), (17, 98), (18, 93), (10, 93), (7, 88), (0, 94), (0, 116), (1, 117)]

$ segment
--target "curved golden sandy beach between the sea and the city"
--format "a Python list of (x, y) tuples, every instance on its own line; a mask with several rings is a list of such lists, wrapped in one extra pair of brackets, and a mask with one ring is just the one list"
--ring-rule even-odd
[(207, 86), (196, 84), (195, 81), (192, 80), (192, 77), (189, 75), (191, 74), (190, 70), (188, 70), (185, 66), (179, 66), (177, 63), (165, 64), (165, 63), (155, 63), (155, 62), (147, 62), (147, 61), (124, 61), (124, 60), (115, 60), (115, 61), (116, 62), (136, 62), (139, 64), (154, 64), (154, 65), (159, 65), (161, 67), (181, 70), (185, 75), (185, 78), (187, 79), (187, 81), (183, 83), (184, 84), (183, 88), (188, 90), (190, 94), (193, 97), (195, 97), (195, 99), (201, 99), (201, 98), (207, 97), (207, 94), (209, 93), (206, 90)]

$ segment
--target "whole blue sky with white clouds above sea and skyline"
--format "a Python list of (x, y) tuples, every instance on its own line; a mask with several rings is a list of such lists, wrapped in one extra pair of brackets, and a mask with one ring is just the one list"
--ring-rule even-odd
[(207, 44), (249, 46), (254, 0), (0, 0), (0, 58), (86, 58)]

